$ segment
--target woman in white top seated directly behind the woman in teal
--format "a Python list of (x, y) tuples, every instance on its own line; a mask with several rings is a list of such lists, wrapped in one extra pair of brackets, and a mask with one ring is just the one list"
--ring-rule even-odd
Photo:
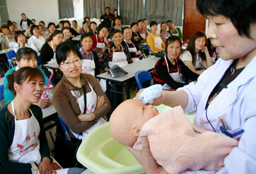
[(23, 48), (23, 47), (29, 47), (29, 48), (32, 48), (33, 50), (35, 50), (37, 53), (39, 52), (37, 50), (36, 46), (34, 45), (34, 43), (30, 40), (27, 40), (23, 31), (15, 31), (14, 38), (16, 41), (16, 43), (13, 46), (15, 53), (17, 53), (18, 49)]

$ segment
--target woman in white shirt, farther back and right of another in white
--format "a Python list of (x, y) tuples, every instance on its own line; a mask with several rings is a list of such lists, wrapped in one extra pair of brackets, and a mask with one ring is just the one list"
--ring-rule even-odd
[(30, 32), (32, 36), (29, 38), (29, 40), (33, 42), (37, 50), (40, 51), (42, 48), (42, 45), (44, 45), (46, 42), (46, 38), (44, 36), (41, 36), (40, 29), (36, 25), (31, 26)]

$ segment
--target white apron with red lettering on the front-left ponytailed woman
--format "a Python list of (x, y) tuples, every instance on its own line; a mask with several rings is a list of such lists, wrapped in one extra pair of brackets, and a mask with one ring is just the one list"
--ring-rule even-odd
[(39, 151), (40, 126), (35, 116), (25, 120), (16, 120), (13, 101), (11, 102), (14, 113), (15, 129), (11, 147), (8, 149), (8, 159), (19, 163), (35, 162), (41, 163)]

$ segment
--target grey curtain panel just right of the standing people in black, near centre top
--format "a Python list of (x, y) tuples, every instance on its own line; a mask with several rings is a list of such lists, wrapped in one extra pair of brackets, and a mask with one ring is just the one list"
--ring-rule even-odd
[(119, 7), (122, 25), (131, 25), (145, 18), (143, 0), (119, 0)]

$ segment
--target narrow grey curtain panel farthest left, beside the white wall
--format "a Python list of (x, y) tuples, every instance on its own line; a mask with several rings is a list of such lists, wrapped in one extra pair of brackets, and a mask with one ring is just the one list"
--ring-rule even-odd
[(74, 17), (74, 6), (72, 0), (58, 0), (59, 3), (59, 18)]

